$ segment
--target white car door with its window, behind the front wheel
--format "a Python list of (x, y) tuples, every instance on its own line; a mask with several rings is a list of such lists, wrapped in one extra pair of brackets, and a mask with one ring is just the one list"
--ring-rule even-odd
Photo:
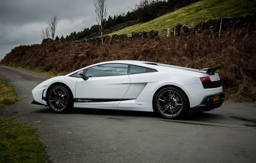
[(131, 81), (127, 64), (108, 63), (86, 69), (88, 80), (76, 82), (76, 104), (118, 105)]

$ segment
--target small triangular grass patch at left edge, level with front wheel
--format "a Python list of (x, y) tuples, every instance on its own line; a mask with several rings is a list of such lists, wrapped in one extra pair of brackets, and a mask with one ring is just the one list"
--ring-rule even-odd
[(18, 102), (16, 90), (0, 78), (0, 108)]

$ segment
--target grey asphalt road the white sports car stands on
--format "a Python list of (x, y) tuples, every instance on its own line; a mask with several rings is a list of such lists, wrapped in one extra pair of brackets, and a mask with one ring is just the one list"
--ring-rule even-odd
[(49, 107), (30, 104), (32, 89), (47, 77), (3, 66), (0, 77), (20, 97), (18, 103), (0, 109), (0, 115), (13, 116), (12, 110), (17, 110), (18, 119), (37, 127), (49, 162), (256, 163), (256, 123), (230, 117), (234, 110), (234, 115), (254, 118), (255, 104), (224, 103), (186, 121), (98, 109), (55, 114)]

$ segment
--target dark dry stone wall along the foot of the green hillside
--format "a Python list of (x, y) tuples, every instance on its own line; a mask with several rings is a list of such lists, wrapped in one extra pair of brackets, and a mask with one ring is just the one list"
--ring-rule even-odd
[[(236, 17), (236, 18), (223, 18), (217, 20), (208, 20), (199, 23), (194, 28), (186, 27), (182, 24), (177, 24), (173, 29), (170, 30), (170, 35), (175, 36), (186, 36), (186, 35), (196, 35), (198, 33), (203, 33), (205, 36), (219, 36), (219, 27), (222, 24), (222, 30), (236, 29), (240, 27), (248, 27), (248, 30), (256, 30), (256, 16), (247, 17)], [(158, 31), (149, 32), (133, 32), (131, 36), (125, 34), (122, 35), (112, 35), (104, 36), (104, 44), (113, 44), (119, 42), (128, 42), (134, 39), (150, 38), (153, 39), (158, 36)], [(84, 43), (88, 42), (93, 45), (101, 45), (101, 37), (85, 38), (74, 41), (74, 43)]]

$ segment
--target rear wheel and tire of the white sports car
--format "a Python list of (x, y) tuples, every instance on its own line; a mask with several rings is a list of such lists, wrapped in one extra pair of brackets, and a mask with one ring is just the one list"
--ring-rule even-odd
[(154, 111), (167, 119), (184, 118), (189, 106), (186, 95), (175, 87), (162, 88), (156, 94), (153, 102)]

